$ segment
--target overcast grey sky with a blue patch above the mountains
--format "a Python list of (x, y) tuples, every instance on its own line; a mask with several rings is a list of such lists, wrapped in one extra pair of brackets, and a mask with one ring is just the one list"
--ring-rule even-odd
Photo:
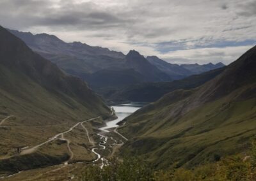
[(229, 64), (256, 45), (256, 1), (1, 0), (0, 25), (171, 63)]

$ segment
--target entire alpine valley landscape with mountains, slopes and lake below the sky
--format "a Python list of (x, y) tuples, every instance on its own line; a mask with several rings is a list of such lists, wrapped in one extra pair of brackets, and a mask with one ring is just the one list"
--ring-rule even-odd
[(0, 40), (0, 180), (256, 180), (256, 46), (225, 66)]

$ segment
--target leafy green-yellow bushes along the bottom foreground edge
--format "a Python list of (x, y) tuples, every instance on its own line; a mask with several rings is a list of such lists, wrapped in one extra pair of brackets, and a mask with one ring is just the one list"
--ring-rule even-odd
[(112, 160), (111, 164), (100, 169), (98, 166), (86, 168), (81, 180), (256, 180), (256, 140), (252, 141), (250, 156), (230, 156), (216, 163), (198, 166), (193, 170), (173, 168), (154, 171), (145, 161), (125, 157), (124, 161)]

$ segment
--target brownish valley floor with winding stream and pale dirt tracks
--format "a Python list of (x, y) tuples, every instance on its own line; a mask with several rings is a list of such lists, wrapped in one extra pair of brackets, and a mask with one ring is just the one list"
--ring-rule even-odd
[[(4, 126), (8, 119), (10, 116), (4, 118), (1, 124)], [(108, 132), (100, 130), (104, 124), (101, 117), (77, 122), (66, 129), (67, 131), (58, 133), (38, 145), (21, 148), (19, 154), (2, 157), (0, 167), (8, 160), (14, 160), (13, 163), (9, 161), (10, 167), (13, 167), (13, 164), (22, 163), (23, 159), (28, 157), (33, 159), (35, 155), (58, 157), (60, 164), (49, 163), (34, 166), (35, 168), (31, 166), (31, 169), (22, 171), (17, 167), (13, 170), (10, 168), (5, 173), (0, 172), (0, 180), (78, 180), (84, 167), (89, 164), (102, 168), (127, 140), (114, 128)]]

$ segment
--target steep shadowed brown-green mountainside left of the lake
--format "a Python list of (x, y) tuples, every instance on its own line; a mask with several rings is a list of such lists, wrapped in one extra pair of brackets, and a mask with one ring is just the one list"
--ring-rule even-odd
[(49, 163), (41, 165), (61, 163), (68, 151), (30, 157), (16, 156), (15, 148), (37, 145), (76, 122), (111, 112), (80, 78), (66, 75), (3, 27), (0, 38), (0, 119), (12, 116), (0, 126), (0, 173), (12, 166), (19, 170), (26, 163), (22, 159), (33, 159), (29, 164), (36, 166), (42, 160)]

